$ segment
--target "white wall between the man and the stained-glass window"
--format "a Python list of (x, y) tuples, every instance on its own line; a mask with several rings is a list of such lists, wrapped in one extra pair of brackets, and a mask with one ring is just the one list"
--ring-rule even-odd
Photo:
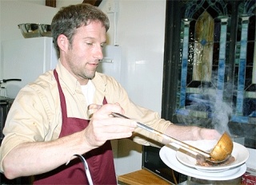
[[(110, 29), (110, 42), (122, 48), (121, 83), (131, 100), (160, 113), (166, 1), (116, 2), (117, 33), (114, 38), (114, 30)], [(110, 3), (102, 1), (100, 8), (107, 13)], [(113, 27), (114, 14), (107, 14)], [(115, 159), (118, 175), (141, 169), (141, 152), (140, 145), (118, 140), (118, 159)]]

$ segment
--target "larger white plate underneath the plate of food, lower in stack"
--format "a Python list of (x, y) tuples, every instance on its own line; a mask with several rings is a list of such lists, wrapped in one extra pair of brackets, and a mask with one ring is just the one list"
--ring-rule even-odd
[(194, 167), (188, 167), (178, 161), (176, 158), (176, 150), (178, 150), (175, 145), (166, 145), (161, 148), (159, 155), (160, 158), (166, 165), (172, 168), (174, 171), (178, 171), (184, 175), (198, 179), (207, 179), (207, 180), (230, 180), (236, 179), (242, 176), (246, 172), (246, 163), (243, 163), (241, 166), (232, 167), (229, 170), (222, 171), (220, 173), (208, 173), (204, 171), (198, 171)]

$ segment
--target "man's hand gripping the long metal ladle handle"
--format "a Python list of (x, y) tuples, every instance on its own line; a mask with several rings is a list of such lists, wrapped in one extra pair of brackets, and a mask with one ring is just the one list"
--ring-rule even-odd
[(85, 130), (85, 135), (91, 146), (98, 147), (104, 144), (106, 140), (132, 136), (132, 132), (137, 126), (134, 120), (111, 116), (112, 112), (124, 113), (119, 104), (91, 104), (89, 108), (94, 110), (94, 113)]

